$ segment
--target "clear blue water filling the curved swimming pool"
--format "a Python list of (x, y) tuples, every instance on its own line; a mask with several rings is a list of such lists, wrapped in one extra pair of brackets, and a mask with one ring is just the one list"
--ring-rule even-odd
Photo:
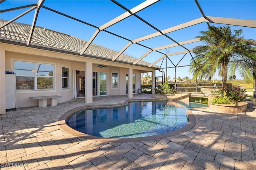
[(186, 111), (206, 107), (178, 101), (131, 102), (127, 106), (83, 110), (71, 115), (66, 124), (79, 132), (104, 138), (135, 138), (177, 130), (188, 123)]

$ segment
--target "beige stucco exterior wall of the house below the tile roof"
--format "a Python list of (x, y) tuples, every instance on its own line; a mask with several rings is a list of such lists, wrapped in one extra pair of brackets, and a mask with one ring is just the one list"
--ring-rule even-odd
[[(18, 45), (10, 45), (1, 43), (1, 88), (0, 88), (0, 110), (5, 112), (5, 72), (14, 71), (14, 61), (28, 61), (54, 64), (54, 90), (37, 90), (37, 91), (17, 91), (17, 107), (29, 107), (38, 105), (37, 100), (32, 100), (29, 97), (46, 96), (46, 95), (60, 95), (58, 103), (72, 99), (72, 71), (81, 70), (86, 71), (85, 63), (92, 63), (92, 71), (107, 73), (107, 95), (126, 95), (126, 74), (128, 68), (132, 67), (133, 74), (136, 74), (136, 93), (140, 86), (141, 72), (154, 71), (154, 69), (147, 67), (140, 67), (135, 65), (127, 65), (124, 63), (117, 63), (113, 61), (103, 61), (90, 57), (83, 57), (78, 55), (63, 54), (59, 52), (47, 51), (42, 49), (34, 49), (31, 47), (21, 47)], [(107, 65), (108, 67), (97, 67), (98, 64)], [(70, 68), (70, 89), (62, 90), (61, 85), (61, 68), (62, 66)], [(119, 73), (119, 87), (111, 87), (112, 72)], [(48, 101), (50, 104), (50, 100)]]

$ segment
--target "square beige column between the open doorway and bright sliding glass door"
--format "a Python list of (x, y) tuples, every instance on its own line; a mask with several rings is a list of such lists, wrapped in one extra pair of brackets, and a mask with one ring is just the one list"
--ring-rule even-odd
[(85, 65), (85, 103), (92, 103), (92, 62), (86, 62)]

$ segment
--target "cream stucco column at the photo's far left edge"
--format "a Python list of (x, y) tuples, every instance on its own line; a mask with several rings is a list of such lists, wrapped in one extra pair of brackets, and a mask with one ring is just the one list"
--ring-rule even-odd
[[(5, 113), (5, 49), (0, 50), (0, 114)], [(11, 70), (9, 70), (11, 71)]]

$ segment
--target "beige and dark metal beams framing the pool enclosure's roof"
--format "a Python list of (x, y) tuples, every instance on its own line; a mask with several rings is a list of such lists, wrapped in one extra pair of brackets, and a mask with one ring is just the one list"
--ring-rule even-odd
[[(0, 0), (0, 3), (4, 2), (5, 0)], [(22, 8), (28, 8), (28, 7), (32, 7), (28, 10), (26, 10), (25, 12), (23, 12), (22, 14), (20, 14), (19, 16), (16, 16), (15, 18), (13, 18), (12, 20), (6, 22), (5, 24), (3, 24), (2, 26), (0, 26), (0, 28), (3, 28), (4, 26), (10, 24), (11, 22), (17, 20), (18, 18), (24, 16), (25, 14), (27, 14), (28, 12), (35, 10), (35, 14), (34, 14), (34, 18), (33, 18), (33, 22), (32, 22), (32, 26), (31, 26), (31, 29), (30, 29), (30, 34), (29, 34), (29, 38), (28, 38), (28, 43), (27, 45), (30, 45), (30, 42), (31, 42), (31, 39), (32, 39), (32, 35), (34, 33), (34, 28), (35, 28), (35, 25), (36, 25), (36, 20), (37, 20), (37, 17), (38, 17), (38, 13), (39, 13), (39, 10), (41, 7), (45, 8), (45, 9), (48, 9), (52, 12), (56, 12), (58, 14), (61, 14), (63, 16), (66, 16), (68, 18), (71, 18), (73, 20), (76, 20), (78, 22), (81, 22), (83, 24), (87, 24), (88, 26), (92, 26), (94, 28), (96, 28), (96, 31), (94, 32), (94, 34), (91, 36), (90, 40), (86, 43), (86, 45), (84, 46), (84, 48), (82, 49), (82, 51), (80, 51), (80, 55), (82, 55), (86, 49), (89, 47), (89, 45), (92, 43), (92, 41), (96, 38), (96, 36), (98, 35), (98, 33), (100, 31), (104, 31), (104, 32), (107, 32), (109, 34), (112, 34), (114, 36), (118, 36), (112, 32), (109, 32), (107, 30), (105, 30), (106, 28), (109, 28), (110, 26), (113, 26), (114, 24), (130, 17), (130, 16), (135, 16), (136, 18), (138, 18), (139, 20), (141, 20), (142, 22), (144, 22), (145, 24), (147, 24), (148, 26), (150, 26), (151, 28), (153, 28), (154, 30), (156, 30), (157, 32), (153, 33), (153, 34), (149, 34), (149, 35), (146, 35), (146, 36), (142, 36), (140, 38), (137, 38), (137, 39), (134, 39), (134, 40), (128, 40), (127, 38), (124, 38), (122, 36), (118, 36), (119, 38), (123, 38), (124, 40), (127, 40), (128, 43), (112, 58), (112, 61), (116, 60), (118, 58), (118, 56), (120, 56), (128, 47), (130, 47), (130, 45), (132, 45), (133, 43), (136, 43), (138, 45), (141, 45), (145, 48), (148, 48), (149, 51), (147, 51), (144, 55), (142, 55), (139, 59), (137, 59), (136, 61), (134, 61), (134, 65), (137, 64), (139, 61), (141, 61), (144, 57), (146, 57), (148, 54), (150, 54), (152, 51), (156, 51), (158, 53), (161, 53), (161, 54), (164, 54), (158, 50), (161, 50), (161, 49), (166, 49), (166, 48), (170, 48), (170, 47), (175, 47), (175, 46), (181, 46), (183, 47), (184, 49), (186, 49), (184, 46), (184, 44), (188, 44), (188, 43), (194, 43), (194, 42), (198, 42), (199, 40), (197, 39), (192, 39), (192, 40), (186, 40), (186, 41), (183, 41), (183, 42), (176, 42), (175, 40), (173, 40), (172, 38), (170, 38), (169, 36), (167, 36), (166, 34), (170, 33), (170, 32), (174, 32), (176, 30), (181, 30), (183, 28), (187, 28), (187, 27), (190, 27), (190, 26), (194, 26), (196, 24), (200, 24), (200, 23), (203, 23), (203, 22), (206, 22), (208, 24), (208, 26), (210, 26), (209, 23), (216, 23), (216, 24), (226, 24), (226, 25), (234, 25), (234, 26), (243, 26), (243, 27), (250, 27), (250, 28), (256, 28), (256, 22), (255, 20), (244, 20), (244, 19), (234, 19), (234, 18), (222, 18), (222, 17), (213, 17), (213, 16), (206, 16), (204, 14), (204, 11), (202, 10), (202, 8), (200, 7), (200, 4), (198, 2), (198, 0), (194, 0), (198, 6), (198, 9), (200, 10), (201, 14), (203, 17), (201, 18), (197, 18), (195, 20), (191, 20), (191, 21), (188, 21), (188, 22), (185, 22), (183, 24), (179, 24), (177, 26), (173, 26), (173, 27), (170, 27), (170, 28), (167, 28), (165, 30), (158, 30), (158, 28), (156, 28), (155, 26), (151, 25), (150, 23), (148, 23), (146, 20), (144, 20), (143, 18), (141, 18), (140, 16), (138, 16), (136, 13), (141, 11), (141, 10), (144, 10), (145, 8), (148, 8), (149, 6), (151, 6), (152, 4), (160, 1), (160, 0), (147, 0), (145, 2), (142, 2), (141, 4), (139, 4), (138, 6), (132, 8), (131, 10), (128, 10), (125, 6), (122, 6), (121, 4), (119, 4), (116, 0), (111, 0), (112, 2), (114, 2), (116, 5), (120, 6), (121, 8), (123, 8), (124, 10), (126, 10), (126, 12), (124, 12), (123, 14), (121, 14), (120, 16), (110, 20), (109, 22), (103, 24), (102, 26), (100, 27), (96, 27), (92, 24), (89, 24), (89, 23), (86, 23), (86, 22), (83, 22), (81, 20), (78, 20), (77, 18), (74, 18), (74, 17), (71, 17), (71, 16), (68, 16), (66, 14), (63, 14), (61, 12), (58, 12), (56, 10), (53, 10), (51, 8), (48, 8), (48, 7), (45, 7), (45, 6), (42, 6), (42, 4), (44, 3), (44, 0), (38, 0), (38, 3), (37, 4), (30, 4), (30, 5), (26, 5), (26, 6), (20, 6), (20, 7), (16, 7), (16, 8), (10, 8), (10, 9), (7, 9), (7, 10), (0, 10), (0, 13), (2, 12), (9, 12), (9, 11), (12, 11), (12, 10), (19, 10), (19, 9), (22, 9)], [(151, 38), (155, 38), (157, 36), (166, 36), (167, 38), (169, 38), (170, 40), (172, 40), (174, 43), (172, 44), (168, 44), (168, 45), (164, 45), (164, 46), (161, 46), (161, 47), (155, 47), (155, 48), (150, 48), (150, 47), (147, 47), (145, 45), (142, 45), (138, 42), (141, 42), (141, 41), (144, 41), (144, 40), (148, 40), (148, 39), (151, 39)], [(189, 49), (186, 49), (185, 51), (179, 51), (179, 52), (175, 52), (175, 53), (169, 53), (169, 54), (164, 54), (162, 57), (160, 57), (158, 60), (154, 61), (151, 65), (149, 65), (149, 67), (152, 67), (152, 65), (154, 65), (155, 63), (157, 63), (158, 61), (160, 61), (161, 59), (163, 59), (164, 57), (168, 57), (168, 56), (171, 56), (171, 55), (178, 55), (178, 54), (181, 54), (181, 53), (190, 53), (191, 50)], [(191, 53), (190, 53), (191, 55)], [(184, 55), (185, 56), (185, 55)], [(192, 55), (191, 55), (192, 57)], [(183, 59), (184, 57), (182, 57)], [(169, 58), (168, 58), (169, 59)], [(182, 60), (181, 59), (181, 60)], [(193, 57), (192, 57), (193, 59)], [(169, 59), (170, 60), (170, 59)], [(180, 60), (180, 61), (181, 61)], [(170, 60), (171, 61), (171, 60)], [(179, 62), (180, 62), (179, 61)], [(172, 62), (172, 61), (171, 61)]]

